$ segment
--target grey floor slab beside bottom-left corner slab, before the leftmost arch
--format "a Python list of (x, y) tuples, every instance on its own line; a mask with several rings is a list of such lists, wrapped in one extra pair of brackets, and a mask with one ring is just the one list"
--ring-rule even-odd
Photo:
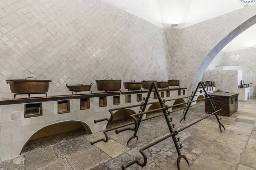
[(58, 160), (50, 146), (26, 152), (24, 153), (24, 158), (26, 170), (34, 170)]

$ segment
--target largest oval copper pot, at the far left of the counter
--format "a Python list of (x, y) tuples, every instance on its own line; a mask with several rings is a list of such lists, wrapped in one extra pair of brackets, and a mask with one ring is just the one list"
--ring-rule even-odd
[[(29, 79), (31, 78), (31, 79)], [(15, 94), (40, 94), (47, 93), (51, 80), (38, 80), (34, 77), (26, 79), (9, 79), (6, 83), (10, 85), (12, 93)]]

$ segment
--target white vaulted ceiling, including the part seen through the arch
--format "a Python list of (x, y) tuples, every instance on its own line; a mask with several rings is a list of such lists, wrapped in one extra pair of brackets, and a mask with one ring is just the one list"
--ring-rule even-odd
[[(179, 24), (184, 28), (214, 17), (256, 4), (256, 0), (102, 0), (163, 28)], [(250, 3), (248, 3), (250, 2)], [(236, 51), (256, 45), (256, 34), (248, 29), (230, 42), (223, 51)], [(255, 31), (254, 31), (255, 32)]]

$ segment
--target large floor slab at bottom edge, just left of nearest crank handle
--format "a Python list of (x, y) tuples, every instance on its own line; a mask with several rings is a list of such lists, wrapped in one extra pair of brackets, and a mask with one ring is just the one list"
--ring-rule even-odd
[(96, 147), (67, 157), (73, 170), (88, 170), (111, 159), (106, 153)]

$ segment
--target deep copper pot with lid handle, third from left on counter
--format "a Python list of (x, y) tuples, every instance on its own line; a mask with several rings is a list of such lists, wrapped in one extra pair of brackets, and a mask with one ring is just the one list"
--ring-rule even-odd
[(96, 80), (98, 91), (119, 91), (121, 89), (122, 80), (113, 80), (106, 78), (105, 80)]

